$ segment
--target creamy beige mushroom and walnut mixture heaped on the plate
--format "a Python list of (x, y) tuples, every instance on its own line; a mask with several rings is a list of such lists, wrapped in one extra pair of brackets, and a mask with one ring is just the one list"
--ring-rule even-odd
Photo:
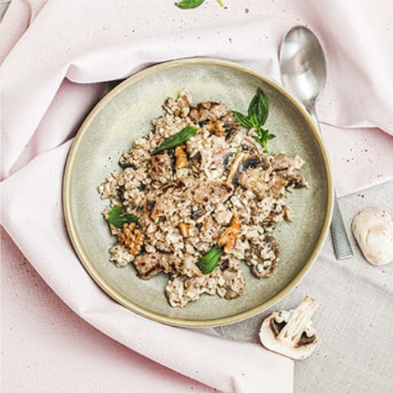
[[(110, 260), (118, 267), (133, 263), (143, 280), (168, 274), (172, 307), (203, 293), (240, 296), (246, 290), (243, 262), (256, 278), (272, 275), (280, 253), (272, 232), (277, 223), (294, 220), (283, 197), (286, 190), (308, 187), (300, 157), (263, 152), (254, 130), (245, 132), (225, 104), (191, 102), (188, 92), (168, 98), (154, 129), (120, 157), (123, 170), (99, 186), (112, 207), (139, 217), (138, 225), (110, 225), (117, 236)], [(189, 125), (197, 127), (192, 138), (152, 155)], [(105, 219), (109, 213), (102, 213)], [(223, 254), (204, 275), (197, 262), (213, 246)]]

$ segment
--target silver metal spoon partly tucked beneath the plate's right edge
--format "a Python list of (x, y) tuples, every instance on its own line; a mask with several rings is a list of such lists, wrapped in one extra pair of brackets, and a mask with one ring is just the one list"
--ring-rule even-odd
[[(286, 33), (280, 50), (280, 70), (282, 83), (300, 99), (320, 132), (315, 102), (325, 87), (326, 61), (318, 38), (311, 30), (295, 26)], [(336, 258), (352, 256), (336, 192), (331, 230)]]

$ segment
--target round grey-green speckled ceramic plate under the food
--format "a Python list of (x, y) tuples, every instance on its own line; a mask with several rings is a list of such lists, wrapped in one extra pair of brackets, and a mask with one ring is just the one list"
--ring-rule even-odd
[[(167, 276), (137, 277), (133, 265), (116, 268), (108, 249), (114, 238), (100, 212), (108, 201), (97, 186), (117, 167), (120, 154), (151, 129), (163, 113), (162, 103), (187, 88), (194, 103), (221, 101), (246, 112), (256, 88), (266, 92), (270, 114), (267, 128), (277, 135), (271, 151), (298, 154), (307, 164), (302, 173), (309, 190), (289, 196), (295, 221), (275, 231), (281, 259), (274, 274), (257, 279), (244, 265), (246, 289), (225, 300), (202, 295), (183, 309), (173, 309), (165, 296)], [(85, 119), (70, 151), (64, 174), (64, 214), (68, 232), (87, 272), (123, 306), (148, 318), (176, 326), (219, 326), (251, 317), (274, 305), (301, 280), (326, 238), (332, 214), (332, 178), (323, 141), (302, 105), (281, 85), (257, 71), (230, 61), (188, 58), (150, 67), (108, 93)], [(83, 288), (81, 288), (81, 293)]]

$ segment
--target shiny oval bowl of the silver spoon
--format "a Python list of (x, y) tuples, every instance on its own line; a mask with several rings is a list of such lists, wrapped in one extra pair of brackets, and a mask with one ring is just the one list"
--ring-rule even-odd
[(280, 50), (282, 83), (313, 114), (316, 99), (326, 84), (326, 60), (318, 38), (304, 26), (285, 35)]

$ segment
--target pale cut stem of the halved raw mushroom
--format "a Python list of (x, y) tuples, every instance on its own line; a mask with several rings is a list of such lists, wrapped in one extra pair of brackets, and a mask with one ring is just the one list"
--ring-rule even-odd
[(278, 338), (289, 337), (293, 342), (299, 342), (306, 330), (312, 314), (318, 308), (318, 303), (306, 296), (304, 301), (291, 313), (286, 325), (282, 328)]

